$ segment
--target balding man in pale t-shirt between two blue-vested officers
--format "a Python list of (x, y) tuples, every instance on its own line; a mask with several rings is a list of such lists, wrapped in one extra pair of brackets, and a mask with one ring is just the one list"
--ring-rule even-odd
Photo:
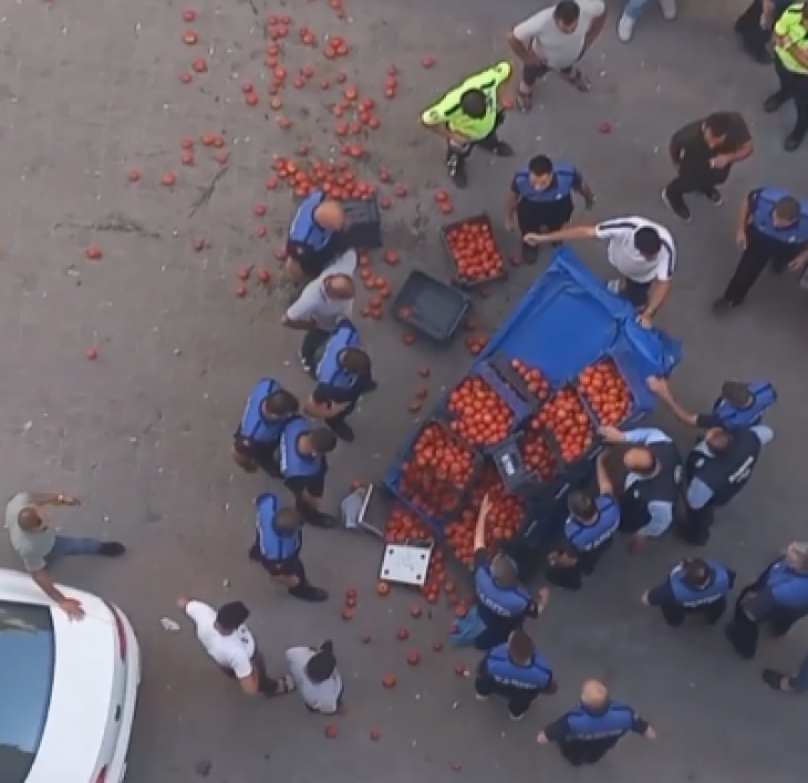
[(338, 322), (353, 314), (353, 299), (356, 295), (353, 275), (356, 265), (354, 250), (343, 253), (301, 291), (283, 316), (284, 326), (305, 331), (300, 361), (307, 373), (313, 372), (315, 354), (336, 328)]

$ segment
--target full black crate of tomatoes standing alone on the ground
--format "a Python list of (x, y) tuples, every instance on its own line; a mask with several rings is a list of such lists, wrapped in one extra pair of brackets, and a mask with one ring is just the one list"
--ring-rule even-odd
[(441, 229), (446, 252), (455, 267), (455, 282), (474, 288), (506, 276), (490, 218), (484, 212)]

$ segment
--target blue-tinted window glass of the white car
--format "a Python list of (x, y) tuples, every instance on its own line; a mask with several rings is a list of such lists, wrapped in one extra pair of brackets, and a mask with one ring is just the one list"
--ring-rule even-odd
[(48, 719), (53, 624), (45, 606), (0, 601), (0, 781), (24, 783)]

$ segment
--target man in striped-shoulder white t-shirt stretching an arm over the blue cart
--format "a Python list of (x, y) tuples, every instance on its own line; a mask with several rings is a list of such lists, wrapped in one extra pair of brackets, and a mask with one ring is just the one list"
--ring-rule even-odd
[(525, 237), (529, 244), (571, 239), (604, 239), (609, 242), (607, 258), (621, 274), (609, 282), (609, 290), (636, 306), (640, 311), (638, 321), (650, 328), (654, 315), (671, 292), (671, 279), (676, 268), (676, 244), (671, 232), (645, 218), (629, 217)]

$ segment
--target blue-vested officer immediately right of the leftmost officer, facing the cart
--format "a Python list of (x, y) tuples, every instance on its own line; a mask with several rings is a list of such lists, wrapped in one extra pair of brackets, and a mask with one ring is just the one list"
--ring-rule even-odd
[(336, 448), (336, 436), (324, 427), (314, 428), (302, 416), (292, 418), (280, 440), (280, 472), (294, 495), (298, 511), (317, 528), (333, 528), (336, 519), (320, 510), (329, 470), (325, 455)]

